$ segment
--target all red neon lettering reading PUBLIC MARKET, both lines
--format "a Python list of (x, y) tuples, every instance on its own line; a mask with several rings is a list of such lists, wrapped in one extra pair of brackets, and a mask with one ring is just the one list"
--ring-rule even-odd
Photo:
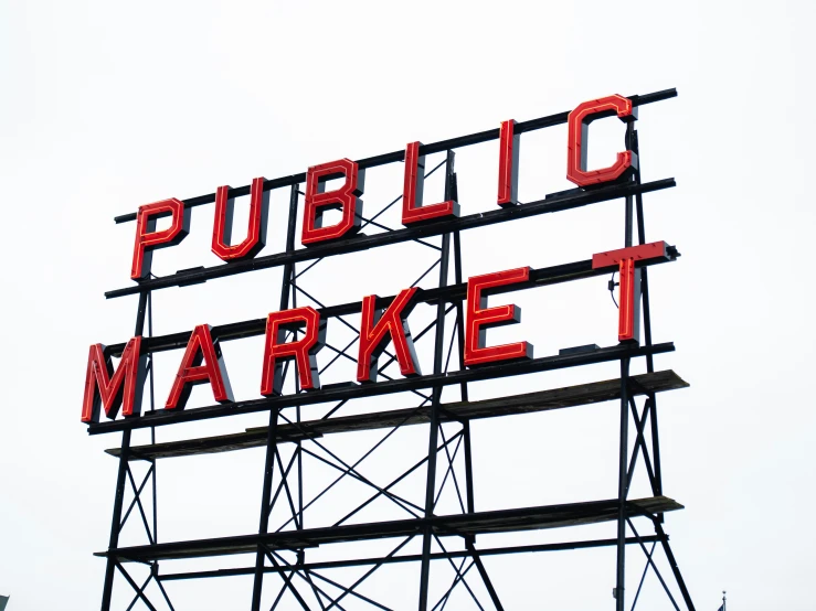
[[(587, 127), (604, 116), (617, 116), (622, 120), (635, 120), (632, 100), (622, 96), (607, 96), (579, 105), (568, 118), (568, 178), (580, 186), (593, 186), (616, 181), (636, 168), (633, 151), (617, 153), (614, 164), (600, 170), (587, 170)], [(519, 205), (518, 171), (520, 133), (513, 120), (501, 122), (498, 133), (498, 192), (501, 207)], [(406, 146), (404, 161), (402, 223), (413, 224), (446, 219), (458, 215), (454, 200), (423, 205), (425, 159), (420, 154), (422, 144)], [(342, 179), (338, 189), (326, 191), (327, 181)], [(250, 191), (250, 218), (246, 237), (231, 245), (234, 202), (229, 186), (219, 186), (215, 193), (215, 222), (212, 250), (225, 261), (255, 257), (263, 248), (268, 221), (269, 192), (265, 179), (256, 178)], [(306, 173), (305, 205), (301, 242), (311, 246), (349, 237), (360, 228), (364, 171), (358, 163), (340, 159), (314, 165)], [(325, 225), (324, 214), (340, 211), (340, 221)], [(170, 226), (156, 231), (157, 219), (170, 217)], [(144, 279), (150, 272), (152, 250), (180, 243), (189, 232), (190, 213), (177, 199), (144, 205), (137, 214), (136, 242), (131, 277)], [(640, 274), (638, 261), (668, 259), (664, 242), (623, 248), (593, 256), (593, 269), (616, 269), (621, 275), (618, 340), (637, 342), (639, 339)], [(488, 345), (486, 331), (490, 328), (520, 321), (520, 308), (515, 304), (488, 307), (487, 298), (494, 292), (527, 288), (530, 268), (520, 267), (494, 274), (474, 276), (467, 280), (465, 303), (464, 364), (467, 367), (489, 365), (507, 361), (532, 358), (532, 345), (519, 341), (502, 345)], [(360, 383), (377, 382), (378, 360), (389, 344), (393, 344), (394, 358), (403, 376), (421, 375), (407, 318), (417, 302), (418, 290), (402, 290), (386, 308), (378, 308), (378, 297), (367, 296), (360, 303), (361, 324), (356, 379)], [(299, 388), (319, 389), (320, 380), (316, 355), (326, 339), (326, 320), (312, 308), (295, 308), (273, 312), (266, 319), (266, 336), (263, 354), (261, 394), (279, 395), (283, 392), (283, 366), (295, 362)], [(146, 357), (140, 354), (141, 337), (131, 339), (114, 369), (102, 344), (89, 349), (85, 380), (82, 420), (97, 422), (102, 409), (108, 418), (115, 418), (119, 408), (124, 416), (139, 414), (139, 384), (144, 382)], [(210, 326), (195, 326), (187, 344), (178, 374), (166, 401), (166, 409), (183, 409), (191, 387), (210, 384), (219, 403), (233, 400), (224, 360), (218, 343), (213, 342)], [(102, 409), (100, 409), (102, 408)]]

